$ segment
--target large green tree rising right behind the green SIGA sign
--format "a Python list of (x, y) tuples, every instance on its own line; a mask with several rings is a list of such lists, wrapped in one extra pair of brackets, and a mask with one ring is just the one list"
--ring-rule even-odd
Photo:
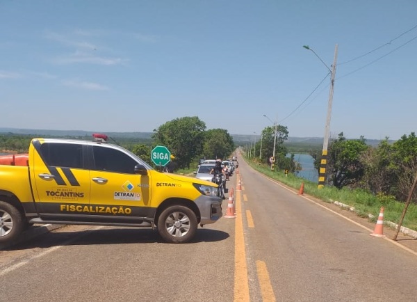
[(170, 120), (154, 129), (156, 145), (165, 145), (174, 154), (178, 168), (190, 168), (190, 163), (202, 153), (206, 123), (197, 116)]

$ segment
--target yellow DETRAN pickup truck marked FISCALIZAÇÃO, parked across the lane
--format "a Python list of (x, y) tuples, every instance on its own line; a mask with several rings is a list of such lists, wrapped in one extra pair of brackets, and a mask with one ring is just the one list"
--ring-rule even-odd
[(156, 228), (183, 243), (222, 217), (216, 184), (158, 172), (103, 138), (33, 138), (28, 154), (0, 157), (0, 243), (33, 223)]

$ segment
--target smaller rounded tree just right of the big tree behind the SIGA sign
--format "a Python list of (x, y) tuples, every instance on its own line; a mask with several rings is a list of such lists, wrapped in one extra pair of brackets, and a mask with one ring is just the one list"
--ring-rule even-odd
[(235, 149), (231, 135), (225, 129), (206, 131), (203, 154), (207, 159), (226, 159)]

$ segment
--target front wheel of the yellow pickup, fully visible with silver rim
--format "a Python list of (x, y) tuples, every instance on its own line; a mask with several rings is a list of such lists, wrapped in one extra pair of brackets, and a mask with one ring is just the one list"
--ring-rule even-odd
[(197, 231), (197, 217), (188, 207), (172, 205), (163, 210), (158, 218), (158, 232), (172, 244), (190, 241)]

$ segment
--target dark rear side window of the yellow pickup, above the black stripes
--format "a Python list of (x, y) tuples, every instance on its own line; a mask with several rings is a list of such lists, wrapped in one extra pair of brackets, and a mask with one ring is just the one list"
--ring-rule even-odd
[(44, 143), (40, 153), (47, 166), (83, 168), (83, 146), (68, 143)]

